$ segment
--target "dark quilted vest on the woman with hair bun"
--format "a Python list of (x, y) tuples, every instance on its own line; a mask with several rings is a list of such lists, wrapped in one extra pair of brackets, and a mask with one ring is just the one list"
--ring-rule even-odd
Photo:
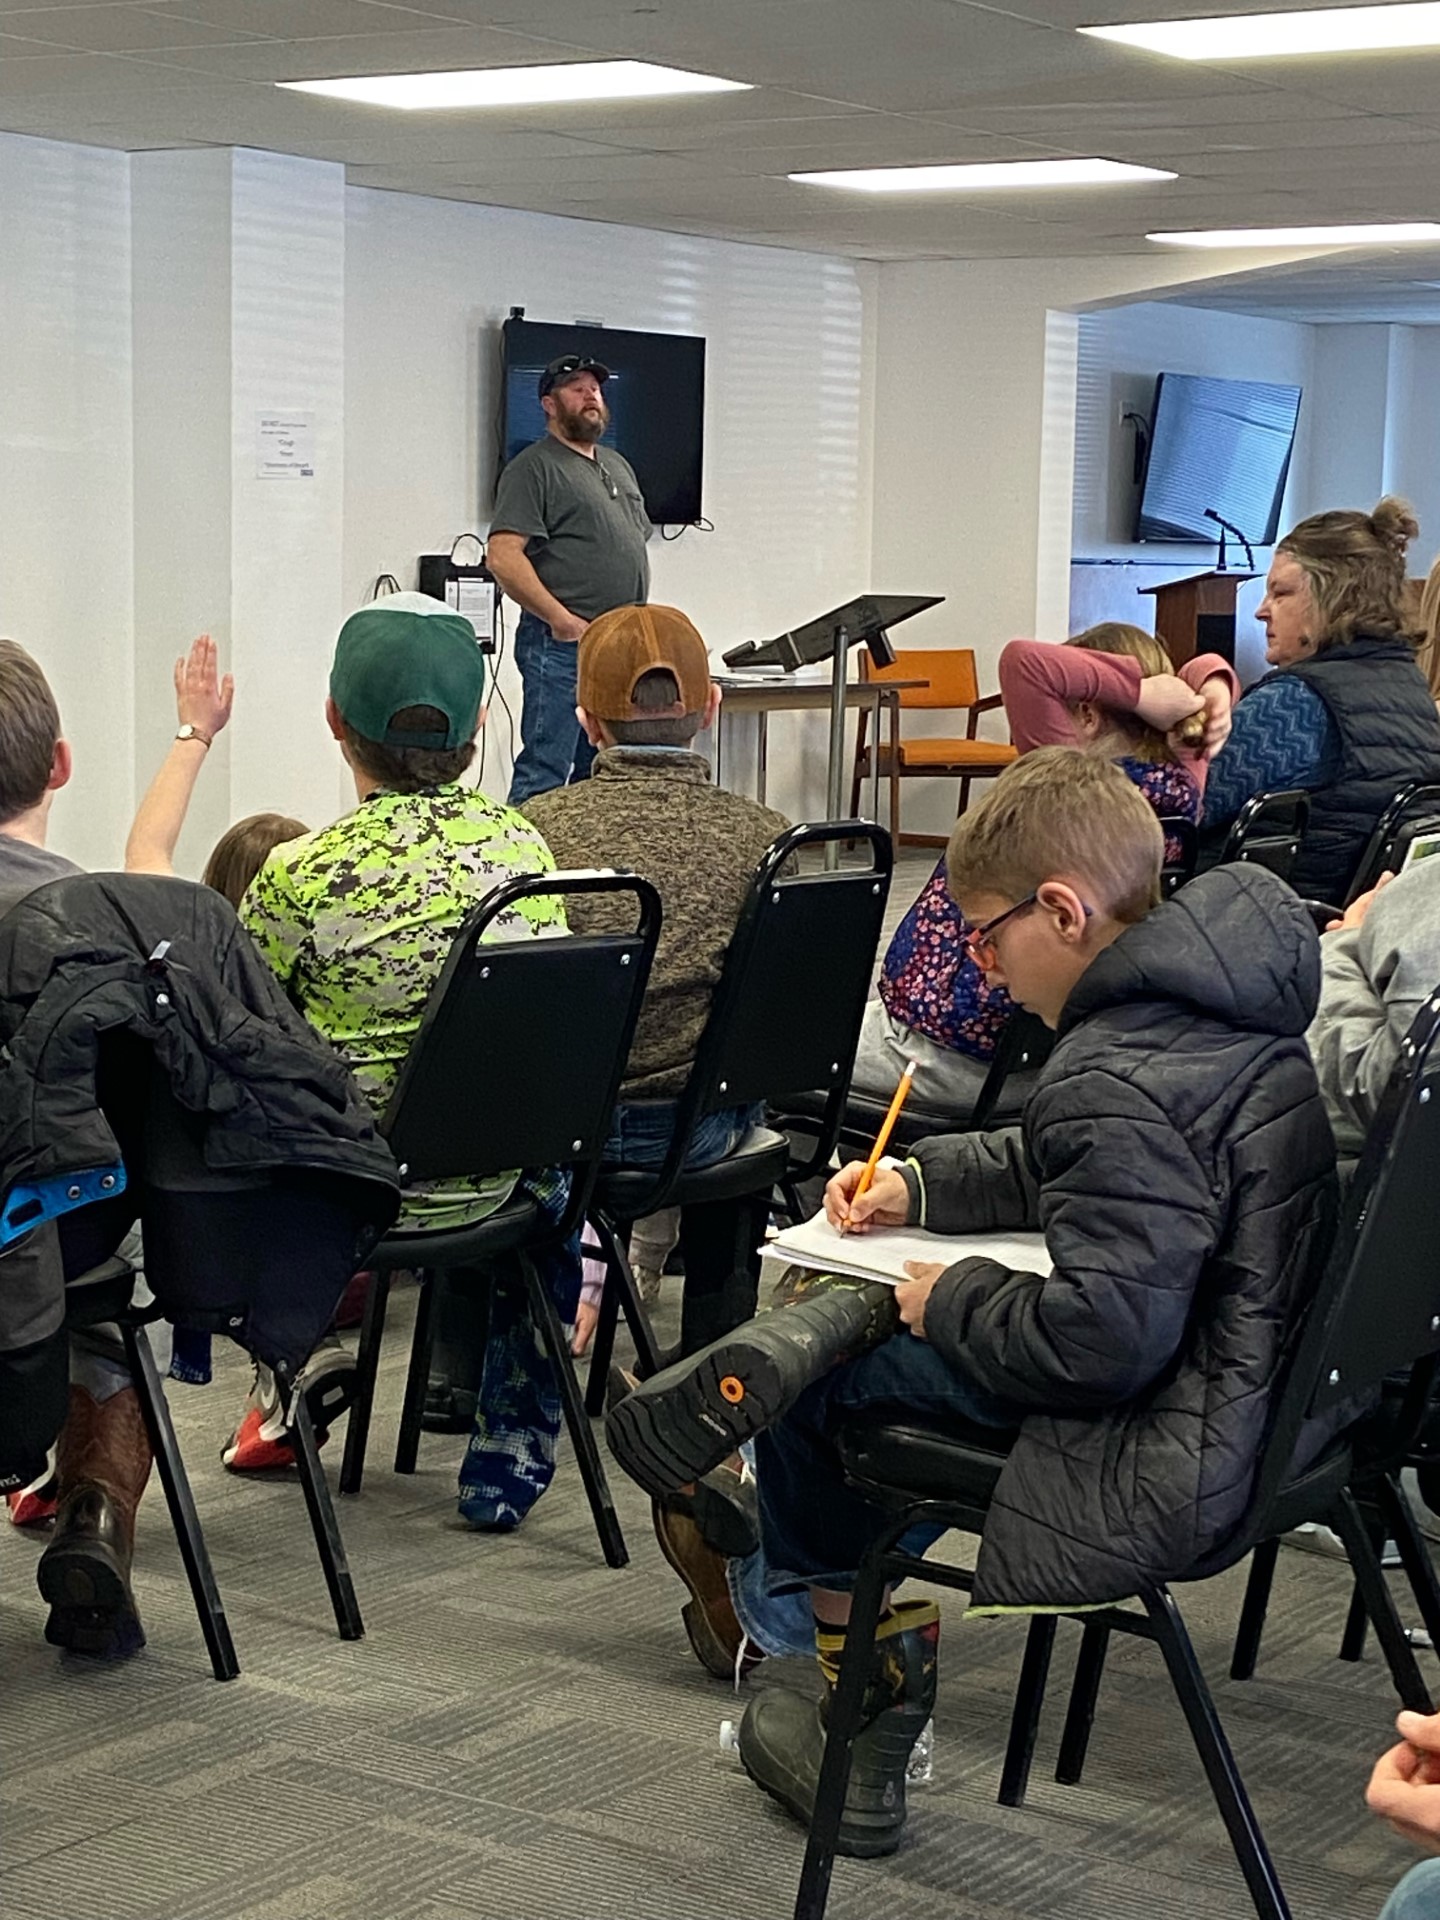
[(1415, 649), (1394, 634), (1357, 634), (1279, 672), (1296, 674), (1325, 701), (1340, 735), (1340, 778), (1309, 797), (1309, 829), (1292, 876), (1304, 899), (1340, 902), (1400, 787), (1440, 781), (1440, 714)]

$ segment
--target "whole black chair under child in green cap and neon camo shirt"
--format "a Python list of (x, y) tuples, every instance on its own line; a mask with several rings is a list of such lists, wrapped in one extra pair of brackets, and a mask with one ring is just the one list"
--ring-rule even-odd
[[(630, 895), (636, 927), (566, 939), (486, 941), (497, 916), (536, 897)], [(470, 1227), (401, 1227), (371, 1254), (374, 1279), (361, 1325), (355, 1404), (340, 1492), (355, 1494), (374, 1405), (390, 1275), (417, 1269), (420, 1302), (399, 1421), (396, 1473), (413, 1473), (434, 1332), (436, 1275), (520, 1273), (536, 1332), (555, 1367), (589, 1511), (605, 1559), (626, 1565), (626, 1546), (605, 1469), (586, 1419), (555, 1302), (536, 1254), (559, 1246), (584, 1219), (611, 1131), (639, 1002), (660, 931), (660, 899), (634, 874), (534, 874), (505, 881), (465, 922), (430, 993), (420, 1031), (392, 1094), (382, 1131), (401, 1177), (482, 1179), (507, 1167), (566, 1167), (570, 1190), (551, 1217), (522, 1187)]]

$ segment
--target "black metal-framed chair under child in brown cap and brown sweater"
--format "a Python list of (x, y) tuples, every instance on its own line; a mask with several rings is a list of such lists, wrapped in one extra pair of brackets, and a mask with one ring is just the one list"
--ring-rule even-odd
[[(837, 841), (866, 847), (870, 864), (799, 872), (803, 849)], [(607, 1165), (595, 1183), (589, 1221), (607, 1261), (607, 1286), (589, 1367), (586, 1404), (591, 1413), (603, 1411), (620, 1311), (636, 1342), (639, 1371), (653, 1373), (659, 1361), (622, 1229), (662, 1206), (749, 1200), (735, 1213), (733, 1260), (741, 1273), (756, 1265), (772, 1188), (793, 1187), (829, 1164), (870, 993), (891, 864), (891, 837), (870, 820), (791, 828), (766, 849), (726, 948), (695, 1066), (676, 1102), (664, 1164)], [(783, 1133), (756, 1127), (724, 1160), (685, 1167), (695, 1129), (708, 1114), (756, 1102), (783, 1106), (785, 1096), (808, 1087), (824, 1087), (824, 1106), (814, 1148), (803, 1160), (791, 1158)]]

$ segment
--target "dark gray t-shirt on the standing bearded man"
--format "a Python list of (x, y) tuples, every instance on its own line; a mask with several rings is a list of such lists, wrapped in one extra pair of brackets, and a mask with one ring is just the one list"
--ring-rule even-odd
[(612, 447), (595, 459), (545, 434), (516, 453), (495, 488), (492, 534), (524, 534), (526, 559), (582, 620), (649, 599), (653, 534), (636, 472)]

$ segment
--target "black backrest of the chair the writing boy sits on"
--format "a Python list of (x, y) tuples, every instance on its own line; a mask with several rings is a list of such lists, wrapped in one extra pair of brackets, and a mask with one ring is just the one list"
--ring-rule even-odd
[(1440, 1356), (1440, 991), (1415, 1014), (1346, 1192), (1325, 1273), (1298, 1329), (1258, 1480), (1263, 1509), (1309, 1419), (1344, 1423), (1396, 1373), (1405, 1404), (1386, 1432), (1404, 1453)]

